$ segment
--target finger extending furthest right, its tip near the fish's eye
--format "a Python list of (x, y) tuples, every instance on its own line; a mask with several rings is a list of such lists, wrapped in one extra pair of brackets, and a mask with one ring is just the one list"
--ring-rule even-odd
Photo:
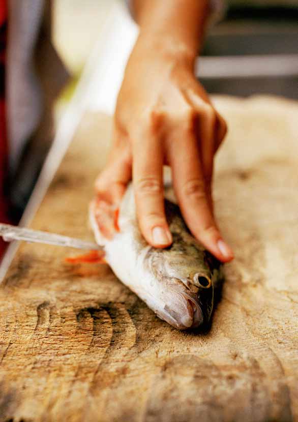
[(190, 132), (182, 136), (183, 143), (171, 143), (170, 163), (173, 184), (183, 216), (193, 235), (223, 262), (233, 253), (224, 242), (208, 205), (197, 139)]

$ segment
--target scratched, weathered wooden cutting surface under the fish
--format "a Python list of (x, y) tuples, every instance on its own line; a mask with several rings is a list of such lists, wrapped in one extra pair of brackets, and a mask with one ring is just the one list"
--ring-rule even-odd
[[(216, 102), (216, 214), (236, 257), (211, 330), (176, 331), (107, 265), (22, 244), (0, 286), (1, 422), (298, 420), (298, 103)], [(32, 227), (92, 238), (110, 132), (84, 116)]]

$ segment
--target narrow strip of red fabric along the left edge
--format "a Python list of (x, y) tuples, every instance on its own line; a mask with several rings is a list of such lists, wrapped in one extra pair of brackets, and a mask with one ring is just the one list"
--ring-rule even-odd
[[(8, 198), (5, 195), (7, 177), (7, 138), (5, 119), (5, 54), (7, 43), (7, 4), (0, 0), (0, 222), (8, 223)], [(0, 260), (6, 249), (6, 243), (0, 239)]]

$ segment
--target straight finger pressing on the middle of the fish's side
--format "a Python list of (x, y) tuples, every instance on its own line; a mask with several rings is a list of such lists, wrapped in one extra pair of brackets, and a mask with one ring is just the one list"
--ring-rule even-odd
[(147, 242), (164, 248), (172, 243), (164, 210), (163, 150), (150, 130), (138, 138), (133, 147), (133, 184), (137, 217)]

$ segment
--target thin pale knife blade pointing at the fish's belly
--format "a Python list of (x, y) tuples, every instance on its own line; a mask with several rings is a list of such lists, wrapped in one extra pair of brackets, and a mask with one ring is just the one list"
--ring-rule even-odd
[(11, 242), (11, 240), (25, 240), (26, 242), (66, 246), (69, 248), (76, 249), (104, 249), (102, 246), (99, 246), (94, 242), (86, 242), (85, 240), (74, 239), (72, 237), (63, 236), (61, 234), (32, 230), (26, 227), (12, 226), (10, 224), (3, 223), (0, 223), (0, 237), (3, 237), (3, 240), (5, 240), (5, 242)]

